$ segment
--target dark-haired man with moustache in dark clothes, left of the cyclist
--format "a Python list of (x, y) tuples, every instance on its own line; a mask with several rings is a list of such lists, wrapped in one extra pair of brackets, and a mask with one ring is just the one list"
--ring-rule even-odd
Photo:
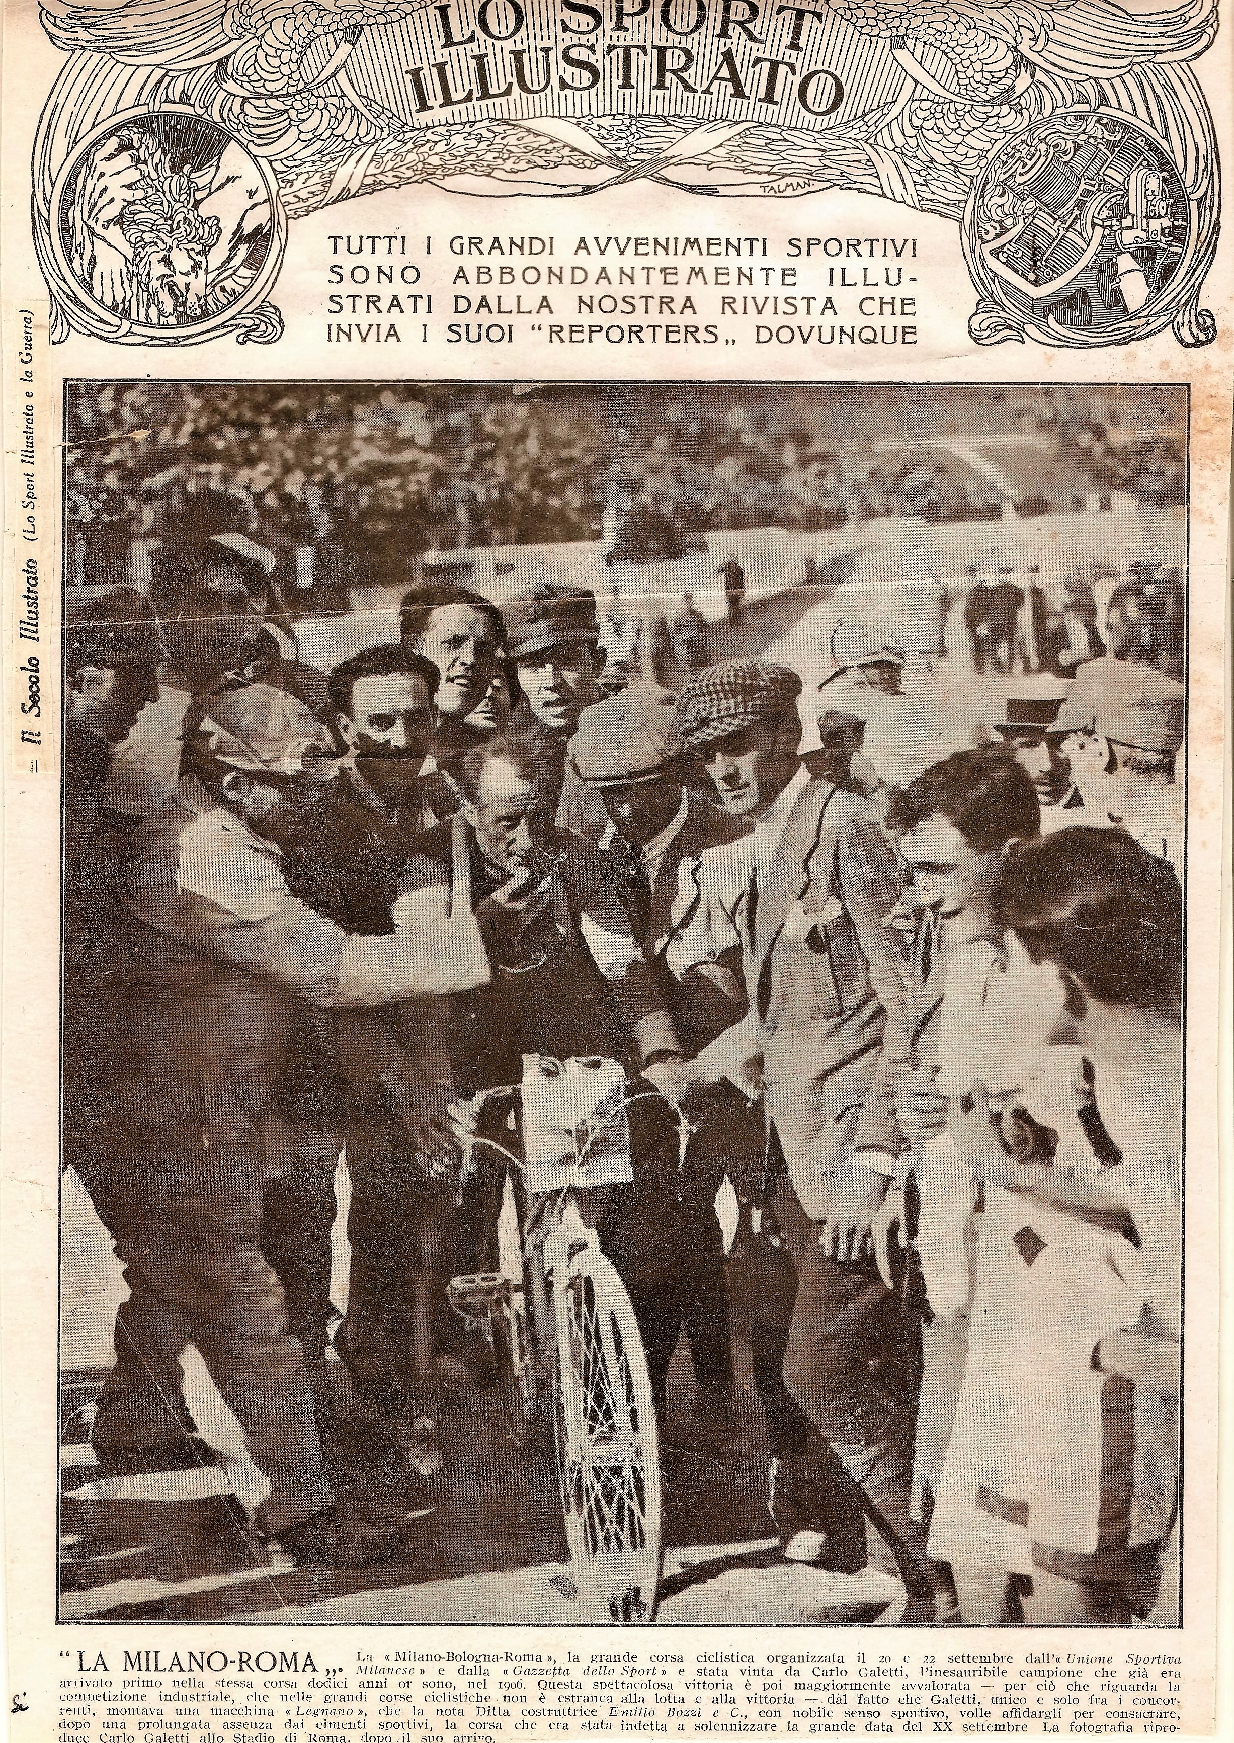
[[(308, 844), (308, 877), (296, 891), (349, 929), (394, 931), (399, 873), (417, 837), (458, 807), (429, 755), (437, 692), (437, 668), (406, 647), (364, 648), (329, 675), (349, 755), (335, 783), (342, 791), (329, 814), (333, 828), (326, 842), (317, 833)], [(434, 1046), (431, 1018), (413, 1000), (380, 1025), (371, 1016), (333, 1020), (350, 1081), (345, 1136), (352, 1178), (350, 1286), (335, 1347), (361, 1410), (397, 1429), (420, 1476), (441, 1471), (437, 1367), (450, 1332), (453, 1225), (443, 1173), (453, 1157), (457, 1117), (450, 1067)], [(390, 1072), (397, 1072), (397, 1098)]]

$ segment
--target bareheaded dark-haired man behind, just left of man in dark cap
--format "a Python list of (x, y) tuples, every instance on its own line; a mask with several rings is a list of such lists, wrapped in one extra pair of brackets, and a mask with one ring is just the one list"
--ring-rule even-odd
[(399, 605), (404, 648), (437, 668), (434, 756), (441, 769), (458, 763), (485, 737), (467, 716), (479, 708), (500, 671), (502, 614), (481, 593), (455, 580), (420, 580)]

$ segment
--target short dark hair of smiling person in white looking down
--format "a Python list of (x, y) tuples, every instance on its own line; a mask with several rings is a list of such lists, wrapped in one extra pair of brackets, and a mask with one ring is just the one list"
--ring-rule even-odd
[(931, 763), (887, 802), (887, 828), (908, 835), (943, 816), (978, 854), (1041, 835), (1041, 804), (1032, 777), (1004, 744), (978, 744)]

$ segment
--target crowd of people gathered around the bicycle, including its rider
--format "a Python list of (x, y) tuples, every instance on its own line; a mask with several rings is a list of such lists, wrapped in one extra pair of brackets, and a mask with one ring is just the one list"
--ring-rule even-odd
[(892, 1574), (913, 1623), (1170, 1618), (1182, 685), (1007, 680), (985, 743), (891, 784), (882, 627), (840, 624), (810, 688), (739, 659), (675, 695), (605, 683), (586, 587), (437, 580), (324, 675), (267, 556), (173, 540), (148, 598), (70, 601), (64, 1161), (129, 1285), (99, 1466), (204, 1455), (193, 1344), (254, 1530), (394, 1555), (335, 1497), (331, 1339), (356, 1419), (448, 1482), (478, 1358), (446, 1283), (493, 1241), (471, 1100), (605, 1056), (659, 1096), (601, 1241), (657, 1408), (685, 1333), (711, 1445), (732, 1185), (788, 1560)]

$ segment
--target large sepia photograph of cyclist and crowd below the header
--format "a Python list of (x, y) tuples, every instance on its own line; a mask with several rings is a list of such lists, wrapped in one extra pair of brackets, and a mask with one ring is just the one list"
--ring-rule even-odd
[(1187, 389), (63, 439), (59, 1619), (1175, 1628)]

